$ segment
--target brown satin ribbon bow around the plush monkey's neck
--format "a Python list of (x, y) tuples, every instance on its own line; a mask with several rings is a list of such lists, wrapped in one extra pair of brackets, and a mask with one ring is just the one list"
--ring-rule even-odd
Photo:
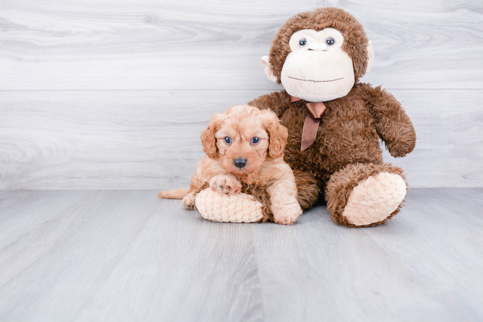
[[(290, 96), (290, 103), (301, 101), (301, 98)], [(325, 116), (325, 105), (322, 102), (319, 103), (305, 103), (305, 109), (307, 110), (307, 116), (304, 121), (304, 129), (302, 130), (302, 146), (300, 150), (303, 151), (314, 143), (317, 137), (317, 129), (320, 121)]]

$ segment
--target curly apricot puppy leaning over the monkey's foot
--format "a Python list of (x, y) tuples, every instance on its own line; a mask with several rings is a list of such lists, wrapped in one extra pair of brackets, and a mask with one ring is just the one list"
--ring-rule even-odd
[(211, 189), (236, 195), (242, 187), (260, 186), (270, 196), (271, 219), (279, 224), (295, 223), (302, 209), (289, 165), (283, 161), (287, 129), (275, 113), (248, 105), (237, 105), (211, 117), (201, 133), (206, 156), (200, 160), (188, 189), (161, 191), (165, 199), (183, 199), (195, 207), (195, 196), (209, 184)]

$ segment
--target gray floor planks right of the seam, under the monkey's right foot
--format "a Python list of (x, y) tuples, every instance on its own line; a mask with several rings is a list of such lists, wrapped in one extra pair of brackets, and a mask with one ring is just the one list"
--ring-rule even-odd
[(325, 207), (290, 229), (260, 226), (268, 321), (481, 320), (482, 193), (414, 189), (370, 229), (335, 226)]

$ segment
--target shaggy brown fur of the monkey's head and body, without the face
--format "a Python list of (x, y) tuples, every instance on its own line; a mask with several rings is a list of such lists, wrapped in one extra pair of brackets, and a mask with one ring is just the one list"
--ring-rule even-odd
[[(326, 190), (336, 172), (341, 171), (341, 176), (348, 176), (346, 180), (353, 180), (346, 184), (344, 193), (332, 193), (333, 189), (327, 188), (325, 194), (332, 219), (338, 224), (351, 226), (340, 219), (336, 209), (344, 208), (350, 187), (359, 183), (359, 176), (350, 175), (352, 165), (381, 166), (380, 139), (392, 156), (403, 157), (414, 149), (416, 135), (410, 118), (391, 94), (380, 87), (358, 83), (367, 67), (368, 39), (357, 20), (342, 9), (322, 8), (300, 13), (279, 29), (269, 56), (278, 83), (283, 63), (290, 53), (290, 36), (301, 29), (319, 31), (325, 28), (334, 28), (343, 34), (342, 48), (353, 61), (355, 85), (346, 96), (324, 102), (325, 117), (318, 127), (315, 142), (300, 151), (307, 115), (305, 101), (291, 103), (288, 93), (281, 91), (262, 95), (248, 105), (274, 111), (280, 123), (288, 129), (284, 158), (294, 171), (298, 200), (303, 209), (310, 208), (319, 199), (319, 194)], [(378, 169), (395, 171), (390, 167)], [(399, 175), (402, 176), (402, 172)]]

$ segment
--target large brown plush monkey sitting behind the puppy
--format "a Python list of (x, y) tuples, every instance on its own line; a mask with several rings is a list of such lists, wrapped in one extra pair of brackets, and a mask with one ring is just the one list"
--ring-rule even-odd
[[(410, 153), (416, 142), (401, 104), (380, 87), (359, 83), (373, 60), (371, 42), (349, 13), (299, 13), (278, 30), (270, 55), (262, 57), (267, 77), (285, 90), (248, 103), (274, 111), (288, 129), (284, 159), (302, 209), (325, 198), (332, 220), (348, 227), (384, 222), (400, 211), (408, 191), (403, 170), (383, 163), (379, 139), (394, 157)], [(197, 207), (226, 196), (209, 198), (197, 198)], [(216, 209), (210, 211), (206, 218)]]

